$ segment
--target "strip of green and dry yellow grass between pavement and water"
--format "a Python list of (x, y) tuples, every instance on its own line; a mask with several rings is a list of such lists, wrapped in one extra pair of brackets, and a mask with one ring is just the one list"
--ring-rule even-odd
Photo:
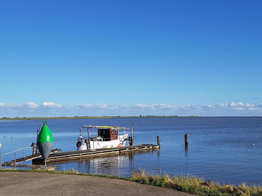
[(23, 172), (45, 172), (51, 174), (71, 174), (81, 176), (96, 176), (112, 179), (121, 179), (132, 182), (138, 182), (145, 185), (152, 185), (157, 187), (171, 188), (177, 191), (185, 193), (191, 193), (201, 196), (262, 196), (261, 186), (248, 186), (244, 183), (241, 185), (220, 185), (218, 182), (209, 182), (210, 186), (201, 185), (204, 181), (202, 178), (195, 176), (173, 176), (169, 175), (152, 175), (144, 169), (138, 169), (132, 172), (131, 177), (120, 177), (110, 175), (99, 175), (99, 174), (84, 174), (79, 173), (71, 169), (69, 171), (39, 171), (39, 170), (0, 170), (0, 172), (6, 171), (23, 171)]

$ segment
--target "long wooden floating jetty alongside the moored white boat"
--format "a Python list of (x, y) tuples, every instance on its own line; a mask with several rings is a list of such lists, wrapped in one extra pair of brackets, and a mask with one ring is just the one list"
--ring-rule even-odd
[[(67, 151), (67, 152), (59, 152), (50, 154), (46, 159), (46, 162), (56, 162), (62, 160), (70, 160), (70, 159), (79, 159), (81, 157), (89, 157), (89, 156), (97, 156), (97, 155), (105, 155), (105, 154), (119, 154), (121, 152), (129, 152), (129, 151), (138, 151), (145, 149), (152, 149), (152, 144), (139, 145), (139, 146), (124, 146), (117, 148), (101, 148), (96, 149), (95, 151), (91, 150), (82, 150), (82, 151)], [(43, 162), (42, 158), (34, 159), (33, 162)]]

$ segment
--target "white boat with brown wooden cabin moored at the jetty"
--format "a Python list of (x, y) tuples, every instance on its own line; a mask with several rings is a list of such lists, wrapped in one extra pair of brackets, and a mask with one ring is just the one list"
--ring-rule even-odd
[[(114, 126), (83, 126), (80, 129), (80, 136), (77, 139), (77, 150), (95, 150), (99, 148), (115, 148), (125, 146), (128, 140), (128, 130), (125, 127)], [(87, 130), (87, 137), (83, 131)], [(119, 131), (123, 131), (120, 135)], [(90, 134), (92, 133), (92, 136)]]

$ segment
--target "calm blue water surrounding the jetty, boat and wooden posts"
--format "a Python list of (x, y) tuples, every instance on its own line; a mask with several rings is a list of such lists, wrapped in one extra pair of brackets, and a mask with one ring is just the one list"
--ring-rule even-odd
[[(262, 183), (262, 118), (114, 118), (47, 120), (54, 136), (54, 147), (75, 150), (82, 125), (135, 125), (135, 144), (154, 143), (161, 139), (160, 150), (121, 155), (82, 158), (52, 164), (56, 170), (74, 168), (80, 172), (130, 176), (138, 168), (167, 174), (194, 174), (220, 183)], [(42, 120), (0, 121), (1, 153), (10, 152), (36, 142), (36, 130)], [(184, 148), (184, 134), (189, 148)], [(4, 139), (4, 136), (7, 136)], [(11, 139), (12, 136), (12, 139)], [(254, 143), (254, 146), (251, 144)], [(25, 150), (30, 155), (31, 149)], [(23, 157), (23, 151), (17, 153)], [(3, 156), (3, 162), (14, 155)], [(25, 164), (31, 164), (26, 162)], [(23, 168), (23, 167), (22, 167)], [(25, 169), (31, 169), (25, 167)]]

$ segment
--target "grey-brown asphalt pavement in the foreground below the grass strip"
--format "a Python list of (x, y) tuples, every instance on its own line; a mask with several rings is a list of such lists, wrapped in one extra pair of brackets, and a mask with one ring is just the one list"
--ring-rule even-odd
[(118, 179), (10, 171), (0, 172), (0, 195), (193, 196), (172, 189)]

